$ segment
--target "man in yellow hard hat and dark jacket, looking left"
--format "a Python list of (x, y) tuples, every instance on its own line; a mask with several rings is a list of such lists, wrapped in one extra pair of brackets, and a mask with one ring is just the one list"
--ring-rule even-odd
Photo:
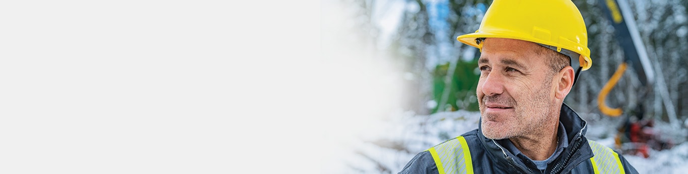
[(495, 0), (473, 34), (481, 51), (477, 129), (418, 153), (400, 173), (637, 173), (585, 138), (563, 103), (590, 69), (581, 13), (569, 0)]

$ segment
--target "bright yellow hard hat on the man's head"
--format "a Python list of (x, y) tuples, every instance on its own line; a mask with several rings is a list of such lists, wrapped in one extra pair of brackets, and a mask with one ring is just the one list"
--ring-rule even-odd
[(567, 55), (571, 57), (572, 65), (580, 63), (582, 71), (592, 66), (585, 22), (571, 0), (495, 0), (482, 18), (480, 29), (456, 40), (482, 49), (477, 38), (536, 42), (560, 53), (575, 53), (573, 55), (577, 55), (578, 62), (574, 62), (572, 55)]

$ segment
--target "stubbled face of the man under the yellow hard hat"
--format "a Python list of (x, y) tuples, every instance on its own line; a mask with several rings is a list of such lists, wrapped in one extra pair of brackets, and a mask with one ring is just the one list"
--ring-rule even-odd
[(524, 40), (484, 40), (476, 93), (485, 137), (504, 139), (537, 134), (539, 127), (553, 119), (550, 112), (555, 106), (554, 73), (545, 54), (538, 54), (538, 49), (545, 48)]

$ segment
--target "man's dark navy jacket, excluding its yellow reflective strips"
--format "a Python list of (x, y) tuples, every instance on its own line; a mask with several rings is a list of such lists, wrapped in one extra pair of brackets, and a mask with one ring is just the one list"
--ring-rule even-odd
[[(588, 145), (588, 138), (585, 138), (587, 123), (566, 104), (561, 106), (559, 121), (566, 129), (569, 145), (560, 147), (563, 151), (548, 164), (544, 173), (594, 173), (590, 161), (594, 153)], [(480, 126), (462, 136), (471, 152), (473, 173), (542, 173), (525, 156), (514, 156), (497, 141), (483, 136)], [(621, 153), (618, 154), (625, 173), (638, 173)], [(438, 173), (438, 169), (431, 153), (423, 151), (413, 157), (400, 173)]]

